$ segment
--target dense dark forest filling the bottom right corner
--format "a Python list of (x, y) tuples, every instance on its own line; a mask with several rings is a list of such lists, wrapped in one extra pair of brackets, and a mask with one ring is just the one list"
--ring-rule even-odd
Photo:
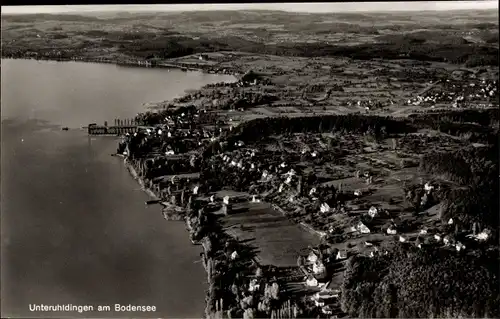
[(497, 265), (498, 250), (469, 255), (398, 244), (348, 262), (342, 309), (357, 318), (498, 318)]

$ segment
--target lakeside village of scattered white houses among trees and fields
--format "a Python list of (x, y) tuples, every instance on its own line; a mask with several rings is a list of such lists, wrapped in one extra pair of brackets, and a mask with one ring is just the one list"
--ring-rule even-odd
[[(259, 83), (249, 74), (230, 87)], [(477, 89), (498, 98), (495, 85), (483, 80)], [(184, 219), (203, 245), (207, 317), (343, 317), (352, 256), (397, 245), (468, 254), (492, 244), (494, 229), (447, 217), (446, 194), (463, 185), (421, 169), (436, 152), (486, 146), (359, 113), (242, 120), (245, 110), (190, 104), (200, 98), (138, 116), (146, 126), (126, 134), (117, 153), (151, 192), (148, 204), (161, 204), (167, 220)]]

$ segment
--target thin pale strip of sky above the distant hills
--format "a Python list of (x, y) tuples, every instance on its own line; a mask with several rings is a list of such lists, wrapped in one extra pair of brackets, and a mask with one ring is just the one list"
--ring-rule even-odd
[(363, 11), (448, 11), (497, 9), (498, 1), (416, 1), (416, 2), (317, 2), (317, 3), (238, 3), (173, 5), (65, 5), (2, 6), (4, 13), (80, 13), (92, 11), (206, 11), (206, 10), (281, 10), (290, 12)]

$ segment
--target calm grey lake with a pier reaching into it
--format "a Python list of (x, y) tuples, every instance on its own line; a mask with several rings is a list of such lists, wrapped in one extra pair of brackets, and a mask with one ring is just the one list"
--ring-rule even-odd
[[(81, 127), (132, 118), (143, 103), (232, 76), (110, 64), (1, 66), (2, 317), (189, 317), (205, 306), (201, 249), (128, 174), (115, 137)], [(62, 131), (61, 126), (69, 127)], [(94, 312), (30, 311), (30, 305)], [(156, 312), (115, 312), (114, 304)], [(97, 312), (99, 305), (112, 311)]]

